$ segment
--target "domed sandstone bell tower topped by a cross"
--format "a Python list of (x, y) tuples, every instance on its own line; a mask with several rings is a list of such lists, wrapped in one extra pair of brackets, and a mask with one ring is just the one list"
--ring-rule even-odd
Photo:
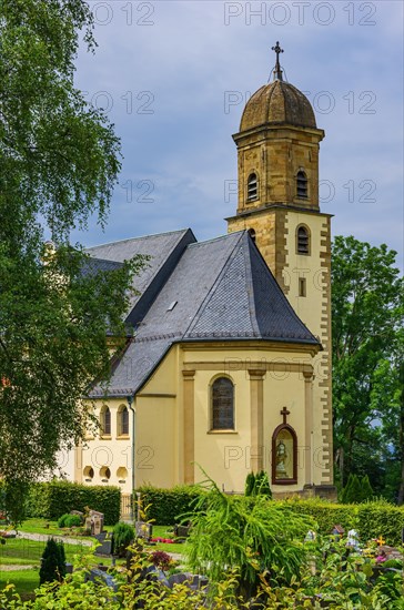
[(290, 304), (323, 346), (313, 364), (313, 482), (332, 485), (331, 237), (320, 211), (316, 126), (307, 98), (284, 80), (276, 42), (271, 83), (248, 101), (238, 148), (236, 214), (229, 232), (249, 230)]

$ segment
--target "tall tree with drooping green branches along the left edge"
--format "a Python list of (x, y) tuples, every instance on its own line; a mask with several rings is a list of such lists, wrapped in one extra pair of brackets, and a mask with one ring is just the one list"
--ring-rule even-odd
[(107, 332), (124, 345), (142, 262), (100, 271), (69, 243), (93, 214), (104, 224), (120, 170), (113, 125), (74, 87), (80, 38), (95, 47), (88, 3), (2, 0), (0, 22), (0, 472), (18, 522), (13, 491), (95, 425), (83, 396), (110, 374)]

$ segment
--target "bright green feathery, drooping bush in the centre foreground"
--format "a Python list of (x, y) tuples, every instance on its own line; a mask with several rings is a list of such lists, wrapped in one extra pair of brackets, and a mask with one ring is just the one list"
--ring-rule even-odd
[(206, 573), (213, 582), (229, 569), (240, 575), (240, 592), (245, 599), (256, 592), (257, 571), (283, 584), (300, 573), (305, 557), (303, 540), (315, 526), (310, 517), (285, 511), (256, 496), (248, 499), (226, 496), (209, 480), (210, 492), (201, 497), (199, 510), (190, 515), (192, 528), (185, 553), (192, 570)]

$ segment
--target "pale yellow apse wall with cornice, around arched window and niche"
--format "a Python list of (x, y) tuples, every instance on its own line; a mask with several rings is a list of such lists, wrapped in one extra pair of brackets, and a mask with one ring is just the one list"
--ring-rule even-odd
[[(276, 349), (262, 343), (260, 346), (231, 344), (183, 347), (184, 368), (194, 369), (195, 435), (194, 460), (225, 490), (242, 491), (245, 477), (252, 468), (252, 438), (250, 414), (250, 369), (261, 369), (263, 376), (263, 466), (271, 480), (271, 447), (274, 429), (283, 421), (283, 406), (291, 411), (287, 423), (295, 429), (299, 441), (297, 485), (272, 486), (274, 491), (301, 490), (305, 481), (305, 389), (303, 368), (310, 369), (313, 362), (309, 350)], [(221, 375), (230, 377), (235, 386), (234, 433), (210, 433), (210, 385)], [(303, 455), (304, 454), (304, 455)], [(203, 480), (199, 468), (195, 481)]]

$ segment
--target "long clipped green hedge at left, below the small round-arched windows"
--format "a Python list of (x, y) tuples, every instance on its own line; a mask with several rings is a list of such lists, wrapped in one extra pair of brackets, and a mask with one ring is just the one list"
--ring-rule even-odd
[(38, 482), (30, 488), (27, 516), (58, 520), (65, 512), (84, 511), (85, 507), (103, 512), (104, 523), (113, 526), (120, 517), (120, 488), (68, 481)]

